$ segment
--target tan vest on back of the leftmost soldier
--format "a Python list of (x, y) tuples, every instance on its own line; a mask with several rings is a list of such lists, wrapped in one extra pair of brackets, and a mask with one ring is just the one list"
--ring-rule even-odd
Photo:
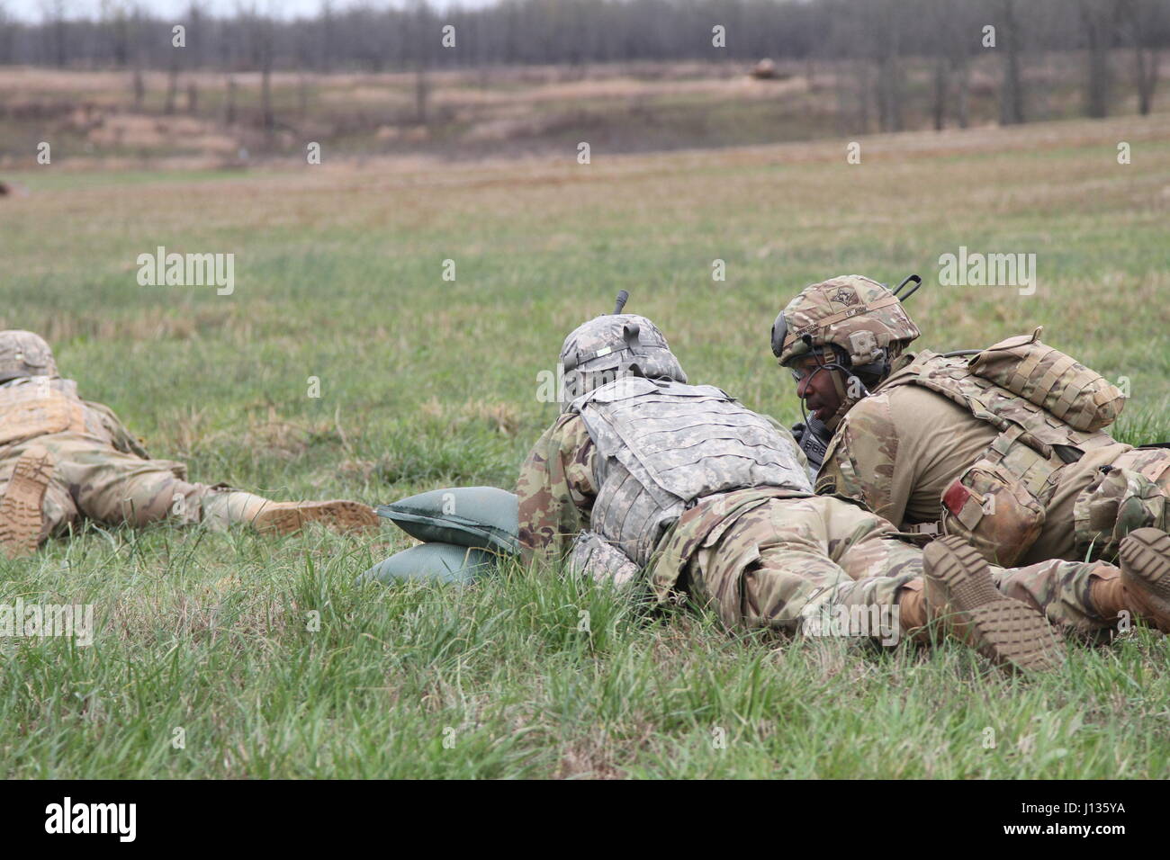
[(73, 379), (22, 377), (0, 385), (0, 446), (53, 433), (110, 435), (77, 397)]

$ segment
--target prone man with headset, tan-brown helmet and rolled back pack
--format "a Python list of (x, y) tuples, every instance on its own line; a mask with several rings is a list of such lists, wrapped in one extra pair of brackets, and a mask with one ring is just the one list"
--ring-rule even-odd
[[(1106, 433), (1121, 392), (1039, 331), (975, 356), (906, 353), (918, 329), (890, 290), (859, 275), (807, 287), (777, 317), (772, 351), (832, 432), (817, 491), (961, 536), (1002, 565), (1112, 559), (1130, 532), (1164, 553), (1170, 450)], [(1156, 571), (1081, 567), (1062, 587), (1003, 576), (1006, 593), (1082, 633), (1123, 611), (1170, 631), (1170, 576)]]

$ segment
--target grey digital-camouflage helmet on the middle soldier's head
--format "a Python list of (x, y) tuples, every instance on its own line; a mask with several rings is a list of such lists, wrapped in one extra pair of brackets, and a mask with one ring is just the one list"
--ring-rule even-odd
[(560, 348), (560, 411), (614, 379), (627, 376), (687, 381), (666, 336), (649, 319), (622, 314), (629, 294), (618, 294), (613, 314), (603, 314), (577, 326)]

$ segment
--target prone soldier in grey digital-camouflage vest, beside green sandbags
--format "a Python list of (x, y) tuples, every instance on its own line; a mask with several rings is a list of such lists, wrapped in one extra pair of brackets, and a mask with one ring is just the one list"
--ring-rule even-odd
[[(894, 608), (901, 632), (942, 618), (996, 662), (1060, 662), (1044, 617), (997, 591), (971, 546), (947, 538), (923, 552), (855, 503), (815, 496), (791, 435), (720, 388), (687, 385), (649, 319), (585, 323), (560, 364), (563, 414), (517, 483), (526, 562), (567, 557), (596, 579), (645, 583), (659, 603), (689, 592), (728, 626), (808, 633), (826, 610)], [(1149, 564), (1170, 567), (1170, 556)], [(1000, 575), (1047, 577), (1062, 593), (1085, 567)]]

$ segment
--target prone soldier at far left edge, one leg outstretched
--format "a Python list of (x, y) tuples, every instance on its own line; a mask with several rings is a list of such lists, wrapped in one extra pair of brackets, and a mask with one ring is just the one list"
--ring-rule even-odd
[(358, 502), (270, 502), (190, 483), (186, 466), (150, 459), (109, 407), (77, 397), (41, 337), (0, 331), (0, 548), (9, 558), (32, 552), (81, 517), (110, 525), (249, 523), (281, 534), (311, 521), (377, 525), (373, 509)]

